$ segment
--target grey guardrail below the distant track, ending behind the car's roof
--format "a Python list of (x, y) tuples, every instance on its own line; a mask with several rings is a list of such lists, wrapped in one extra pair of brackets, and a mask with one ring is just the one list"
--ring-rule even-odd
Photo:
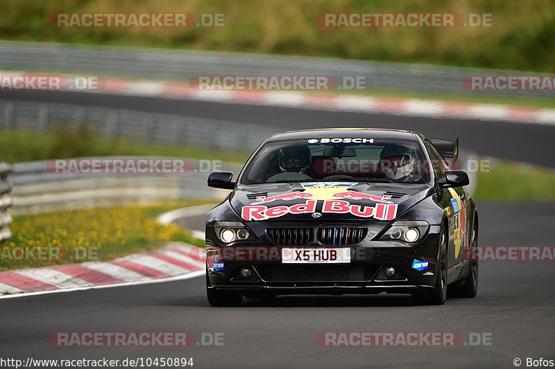
[(0, 100), (0, 128), (46, 132), (56, 125), (76, 129), (87, 123), (94, 134), (133, 141), (192, 145), (212, 150), (252, 151), (279, 129), (173, 114), (126, 109)]

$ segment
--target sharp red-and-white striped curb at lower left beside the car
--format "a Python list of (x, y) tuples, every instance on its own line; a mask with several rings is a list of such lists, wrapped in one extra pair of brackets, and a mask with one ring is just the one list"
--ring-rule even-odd
[(205, 250), (183, 242), (107, 262), (83, 262), (0, 272), (1, 298), (142, 285), (203, 276)]

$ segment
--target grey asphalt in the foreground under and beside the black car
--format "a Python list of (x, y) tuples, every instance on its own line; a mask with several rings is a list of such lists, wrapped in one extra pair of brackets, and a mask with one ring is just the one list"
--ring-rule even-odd
[[(482, 245), (552, 244), (553, 204), (479, 204)], [(199, 217), (200, 218), (200, 217)], [(199, 224), (200, 219), (192, 224)], [(204, 278), (0, 301), (0, 357), (193, 357), (194, 368), (514, 368), (555, 358), (552, 262), (482, 262), (474, 299), (415, 306), (402, 295), (247, 298), (210, 307)], [(223, 332), (224, 345), (189, 348), (56, 348), (52, 332)], [(469, 332), (491, 345), (331, 348), (318, 332)], [(525, 364), (522, 364), (524, 367)]]

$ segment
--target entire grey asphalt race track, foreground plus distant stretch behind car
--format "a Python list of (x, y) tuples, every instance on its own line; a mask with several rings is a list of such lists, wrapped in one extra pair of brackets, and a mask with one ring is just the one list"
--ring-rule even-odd
[[(17, 96), (16, 96), (17, 95)], [(191, 102), (86, 93), (2, 93), (0, 98), (58, 100), (123, 109), (290, 127), (394, 127), (429, 136), (459, 134), (479, 154), (555, 166), (555, 127), (379, 114)], [(146, 104), (148, 102), (148, 104)], [(515, 179), (518, 180), (518, 179)], [(553, 245), (553, 203), (481, 203), (479, 243)], [(202, 217), (189, 219), (201, 228)], [(210, 307), (204, 278), (0, 300), (0, 357), (125, 359), (193, 357), (193, 368), (514, 368), (513, 359), (555, 359), (552, 262), (480, 264), (478, 296), (416, 306), (402, 295), (246, 298), (237, 308)], [(52, 332), (223, 332), (224, 344), (189, 348), (56, 348)], [(439, 348), (330, 348), (318, 332), (460, 332), (490, 345)], [(468, 342), (467, 342), (468, 343)]]

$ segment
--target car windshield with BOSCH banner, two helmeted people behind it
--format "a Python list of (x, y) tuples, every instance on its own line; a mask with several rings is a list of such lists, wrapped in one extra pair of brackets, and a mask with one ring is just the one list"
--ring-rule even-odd
[(265, 143), (241, 174), (241, 184), (305, 181), (428, 183), (416, 141), (314, 138)]

